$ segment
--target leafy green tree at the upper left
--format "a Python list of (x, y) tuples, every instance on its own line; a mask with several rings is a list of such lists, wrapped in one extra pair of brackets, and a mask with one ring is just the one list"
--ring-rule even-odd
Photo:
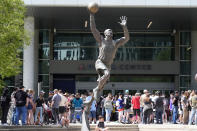
[(28, 36), (24, 29), (23, 0), (0, 0), (0, 85), (21, 72), (20, 53)]

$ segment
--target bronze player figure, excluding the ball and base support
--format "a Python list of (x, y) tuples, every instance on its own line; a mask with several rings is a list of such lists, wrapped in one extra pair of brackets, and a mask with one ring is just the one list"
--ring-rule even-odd
[(95, 63), (95, 68), (98, 73), (98, 86), (93, 90), (95, 100), (97, 100), (98, 93), (104, 88), (105, 83), (110, 77), (111, 64), (113, 63), (118, 47), (129, 41), (129, 32), (126, 26), (127, 17), (122, 16), (120, 20), (121, 22), (118, 23), (123, 28), (124, 37), (113, 40), (113, 32), (111, 29), (104, 31), (105, 37), (100, 34), (96, 29), (94, 14), (90, 13), (90, 29), (99, 45), (99, 56)]

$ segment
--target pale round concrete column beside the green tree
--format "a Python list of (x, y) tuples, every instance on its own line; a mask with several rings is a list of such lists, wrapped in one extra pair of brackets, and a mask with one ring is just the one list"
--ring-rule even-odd
[(23, 85), (26, 89), (37, 90), (37, 48), (36, 48), (36, 36), (35, 31), (35, 19), (32, 16), (25, 18), (25, 30), (30, 37), (30, 44), (24, 47), (23, 51)]

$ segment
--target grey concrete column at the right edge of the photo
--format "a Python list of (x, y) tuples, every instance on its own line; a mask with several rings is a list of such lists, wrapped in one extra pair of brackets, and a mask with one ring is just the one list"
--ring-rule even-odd
[(196, 89), (197, 81), (194, 76), (197, 73), (197, 31), (191, 32), (191, 88)]

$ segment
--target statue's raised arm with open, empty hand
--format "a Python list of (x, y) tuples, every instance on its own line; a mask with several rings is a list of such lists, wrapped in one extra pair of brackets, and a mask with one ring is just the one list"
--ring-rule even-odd
[(117, 46), (121, 46), (124, 45), (125, 43), (127, 43), (129, 41), (129, 31), (127, 29), (127, 17), (126, 16), (122, 16), (120, 17), (121, 22), (119, 22), (119, 24), (122, 26), (123, 31), (124, 31), (124, 37), (121, 37), (120, 39), (116, 40), (116, 44)]

